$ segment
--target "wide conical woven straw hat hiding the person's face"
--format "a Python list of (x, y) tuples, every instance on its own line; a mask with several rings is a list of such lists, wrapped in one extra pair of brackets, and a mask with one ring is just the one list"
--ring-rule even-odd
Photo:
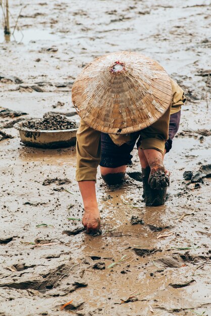
[(172, 85), (152, 59), (138, 52), (115, 52), (83, 69), (73, 84), (72, 101), (91, 128), (127, 134), (164, 115), (172, 101)]

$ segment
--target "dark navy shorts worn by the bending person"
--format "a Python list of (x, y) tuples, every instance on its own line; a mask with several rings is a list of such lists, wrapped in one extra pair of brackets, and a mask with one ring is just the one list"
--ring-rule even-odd
[[(172, 148), (172, 140), (179, 129), (181, 111), (170, 116), (169, 123), (169, 139), (166, 141), (166, 152)], [(137, 141), (138, 139), (138, 141)], [(108, 168), (116, 168), (123, 165), (131, 165), (133, 150), (137, 141), (137, 148), (141, 143), (140, 134), (131, 141), (130, 144), (125, 143), (121, 146), (116, 145), (108, 134), (101, 133), (101, 161), (100, 166)]]

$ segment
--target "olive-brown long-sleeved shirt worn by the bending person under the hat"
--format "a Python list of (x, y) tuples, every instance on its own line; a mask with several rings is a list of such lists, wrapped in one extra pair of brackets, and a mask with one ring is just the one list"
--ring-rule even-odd
[[(140, 131), (141, 149), (156, 149), (164, 153), (165, 142), (169, 138), (170, 115), (179, 112), (185, 102), (182, 88), (172, 79), (171, 83), (173, 89), (172, 104), (159, 120)], [(96, 181), (97, 167), (101, 157), (100, 134), (101, 132), (92, 129), (81, 120), (76, 142), (77, 181)], [(118, 146), (131, 141), (135, 137), (135, 133), (109, 135)]]

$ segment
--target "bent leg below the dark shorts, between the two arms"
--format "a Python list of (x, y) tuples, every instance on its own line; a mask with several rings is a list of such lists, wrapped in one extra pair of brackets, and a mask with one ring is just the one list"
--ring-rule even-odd
[(100, 166), (102, 179), (108, 185), (121, 184), (125, 179), (126, 168), (126, 165), (117, 168), (108, 168)]

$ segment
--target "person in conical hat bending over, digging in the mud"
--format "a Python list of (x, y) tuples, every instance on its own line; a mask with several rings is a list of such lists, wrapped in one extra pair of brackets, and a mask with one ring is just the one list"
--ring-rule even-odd
[(77, 169), (87, 233), (100, 227), (95, 182), (97, 167), (108, 185), (124, 181), (136, 145), (147, 206), (165, 203), (170, 172), (164, 155), (178, 131), (184, 91), (157, 62), (138, 52), (95, 59), (76, 78), (72, 101), (81, 117)]

